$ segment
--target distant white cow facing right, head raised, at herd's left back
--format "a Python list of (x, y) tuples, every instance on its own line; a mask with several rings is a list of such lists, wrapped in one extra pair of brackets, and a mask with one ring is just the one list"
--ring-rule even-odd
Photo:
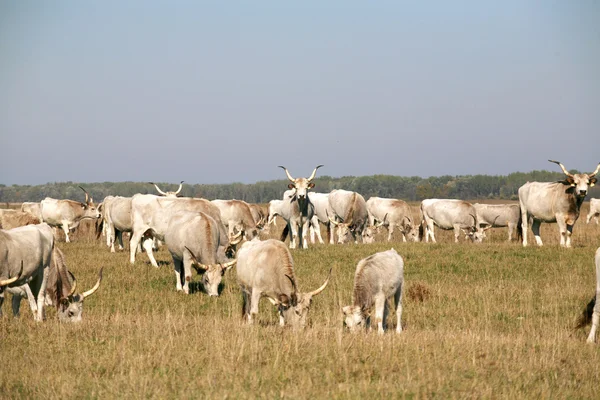
[(85, 218), (100, 218), (100, 213), (94, 205), (88, 192), (79, 187), (85, 192), (85, 203), (80, 203), (74, 200), (56, 200), (46, 197), (41, 202), (42, 220), (50, 226), (61, 227), (65, 232), (65, 240), (69, 240), (69, 229), (74, 229), (79, 226), (82, 219)]

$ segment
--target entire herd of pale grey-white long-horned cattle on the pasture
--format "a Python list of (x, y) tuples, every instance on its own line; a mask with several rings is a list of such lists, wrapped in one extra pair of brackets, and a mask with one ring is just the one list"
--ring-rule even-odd
[[(321, 237), (326, 227), (330, 244), (349, 241), (372, 243), (382, 227), (387, 240), (398, 230), (404, 242), (435, 242), (434, 227), (454, 230), (455, 241), (461, 232), (468, 240), (481, 243), (486, 231), (508, 227), (508, 240), (515, 231), (527, 245), (527, 229), (531, 229), (538, 245), (542, 245), (540, 224), (556, 222), (560, 244), (571, 246), (573, 226), (580, 213), (588, 188), (596, 183), (600, 164), (589, 174), (571, 174), (559, 162), (565, 179), (559, 182), (528, 182), (519, 188), (519, 204), (471, 204), (462, 200), (426, 199), (421, 202), (421, 218), (417, 222), (409, 205), (398, 199), (371, 197), (365, 201), (356, 192), (336, 189), (315, 193), (313, 182), (317, 166), (308, 178), (294, 178), (285, 171), (290, 183), (281, 200), (272, 200), (264, 209), (241, 200), (213, 200), (178, 197), (182, 189), (164, 192), (154, 184), (159, 196), (137, 194), (133, 197), (107, 196), (95, 205), (85, 192), (85, 202), (46, 198), (40, 203), (23, 203), (21, 211), (0, 212), (0, 307), (4, 292), (13, 295), (13, 314), (18, 315), (22, 297), (27, 297), (34, 318), (44, 318), (44, 306), (58, 309), (61, 321), (81, 320), (85, 297), (100, 286), (102, 271), (95, 286), (76, 293), (76, 281), (68, 271), (62, 252), (54, 245), (52, 227), (62, 229), (66, 242), (69, 233), (83, 219), (96, 221), (98, 236), (103, 232), (107, 246), (115, 252), (115, 242), (123, 249), (123, 233), (130, 234), (130, 262), (145, 251), (153, 266), (158, 267), (153, 250), (161, 242), (168, 248), (174, 263), (176, 290), (189, 293), (192, 269), (202, 274), (209, 296), (218, 296), (225, 272), (236, 265), (238, 283), (243, 296), (243, 313), (247, 322), (258, 312), (258, 301), (267, 299), (279, 310), (280, 323), (303, 326), (312, 297), (321, 293), (329, 277), (318, 289), (300, 293), (291, 253), (284, 240), (290, 235), (290, 248), (308, 248)], [(600, 215), (600, 200), (592, 199), (589, 223)], [(260, 240), (260, 232), (285, 220), (281, 240)], [(316, 240), (315, 240), (316, 236)], [(238, 249), (240, 243), (245, 243)], [(593, 309), (593, 327), (588, 341), (595, 340), (600, 319), (600, 249), (596, 254), (597, 288)], [(331, 274), (331, 270), (329, 271)], [(343, 308), (345, 325), (369, 326), (370, 309), (375, 307), (378, 331), (384, 331), (387, 300), (395, 299), (400, 332), (402, 313), (403, 260), (395, 250), (373, 254), (361, 260), (354, 278), (353, 305)], [(591, 309), (591, 308), (590, 308)], [(0, 309), (1, 312), (1, 309)], [(591, 315), (590, 315), (591, 317)]]

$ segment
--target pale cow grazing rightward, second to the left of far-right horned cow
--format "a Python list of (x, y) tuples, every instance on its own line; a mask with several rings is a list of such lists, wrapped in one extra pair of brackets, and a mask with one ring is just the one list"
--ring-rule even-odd
[(477, 211), (469, 202), (452, 199), (426, 199), (421, 202), (422, 226), (425, 229), (425, 242), (435, 243), (434, 225), (440, 229), (454, 229), (454, 241), (458, 243), (460, 231), (474, 243), (485, 238), (483, 229), (478, 228)]

